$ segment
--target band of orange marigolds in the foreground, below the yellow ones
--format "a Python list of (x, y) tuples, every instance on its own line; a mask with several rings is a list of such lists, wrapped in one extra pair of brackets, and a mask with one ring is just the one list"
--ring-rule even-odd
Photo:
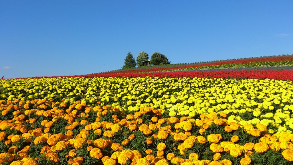
[(229, 122), (224, 112), (168, 117), (141, 107), (0, 102), (2, 164), (290, 164), (293, 134), (261, 123)]

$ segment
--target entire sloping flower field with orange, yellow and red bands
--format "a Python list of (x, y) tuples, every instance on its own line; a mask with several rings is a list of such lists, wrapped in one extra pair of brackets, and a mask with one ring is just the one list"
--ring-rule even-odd
[(293, 71), (240, 69), (268, 66), (293, 58), (1, 80), (0, 163), (293, 164)]

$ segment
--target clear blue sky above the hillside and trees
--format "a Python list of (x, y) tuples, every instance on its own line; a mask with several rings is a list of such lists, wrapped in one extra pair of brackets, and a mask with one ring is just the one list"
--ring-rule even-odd
[(171, 63), (293, 53), (293, 1), (0, 1), (0, 77), (120, 69), (131, 52)]

